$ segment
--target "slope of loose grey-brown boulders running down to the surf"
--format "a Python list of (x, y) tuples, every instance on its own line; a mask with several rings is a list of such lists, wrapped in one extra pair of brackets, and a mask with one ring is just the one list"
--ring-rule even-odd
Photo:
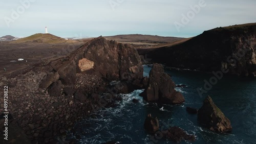
[[(38, 88), (45, 75), (46, 73), (30, 71), (22, 77), (5, 81), (9, 83), (7, 84), (10, 100), (8, 110), (13, 116), (9, 125), (20, 127), (33, 143), (56, 143), (55, 135), (67, 133), (67, 130), (72, 128), (78, 119), (84, 118), (108, 104), (108, 101), (98, 94), (94, 94), (93, 98), (88, 98), (84, 103), (80, 103), (78, 98), (78, 100), (74, 99), (63, 89), (60, 91), (62, 94), (58, 97), (52, 97), (46, 88)], [(105, 84), (96, 76), (87, 76), (87, 78), (91, 79), (83, 80), (84, 83), (95, 83), (95, 85), (91, 87), (87, 85), (87, 88), (83, 86), (86, 91), (96, 92), (97, 85)], [(81, 84), (80, 81), (78, 83)], [(105, 103), (98, 103), (99, 99)], [(4, 109), (0, 111), (4, 111)], [(14, 135), (10, 135), (10, 139), (19, 139), (12, 136)]]

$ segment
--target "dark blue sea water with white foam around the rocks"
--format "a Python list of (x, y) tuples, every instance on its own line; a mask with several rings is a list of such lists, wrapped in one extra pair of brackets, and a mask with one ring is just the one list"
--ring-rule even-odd
[[(144, 76), (150, 72), (150, 66), (144, 66)], [(178, 126), (188, 134), (196, 135), (195, 142), (181, 143), (256, 143), (256, 80), (224, 76), (202, 97), (197, 88), (204, 87), (204, 80), (214, 76), (193, 70), (170, 70), (176, 84), (185, 84), (177, 88), (185, 97), (183, 105), (158, 105), (147, 103), (139, 96), (143, 90), (135, 90), (130, 94), (122, 94), (123, 100), (115, 108), (102, 109), (95, 115), (97, 118), (87, 118), (78, 122), (75, 133), (69, 133), (69, 138), (79, 135), (77, 143), (102, 143), (118, 141), (120, 143), (174, 143), (165, 139), (157, 139), (148, 135), (144, 128), (144, 119), (148, 113), (157, 116), (160, 128)], [(233, 128), (231, 133), (215, 133), (202, 127), (197, 122), (197, 115), (188, 114), (186, 106), (199, 109), (205, 97), (210, 95), (215, 104), (229, 118)], [(139, 103), (134, 104), (133, 99)]]

